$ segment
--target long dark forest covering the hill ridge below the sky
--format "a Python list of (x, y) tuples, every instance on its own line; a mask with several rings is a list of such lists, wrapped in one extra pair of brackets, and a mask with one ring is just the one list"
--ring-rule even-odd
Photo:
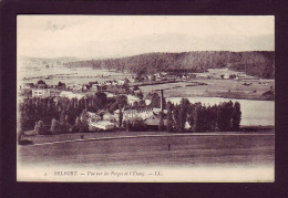
[(229, 52), (198, 51), (182, 53), (146, 53), (120, 59), (89, 60), (64, 63), (68, 67), (90, 66), (93, 69), (117, 70), (133, 74), (156, 72), (195, 72), (207, 69), (228, 67), (248, 75), (274, 79), (275, 53), (268, 51)]

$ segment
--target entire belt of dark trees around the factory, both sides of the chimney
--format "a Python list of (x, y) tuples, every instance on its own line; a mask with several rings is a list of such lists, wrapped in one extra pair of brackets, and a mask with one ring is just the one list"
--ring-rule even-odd
[[(152, 100), (148, 107), (161, 107), (157, 93), (147, 94)], [(97, 113), (103, 118), (103, 111), (114, 113), (120, 110), (117, 124), (127, 131), (145, 131), (143, 119), (123, 121), (123, 107), (130, 106), (125, 95), (107, 97), (105, 93), (96, 92), (86, 98), (47, 97), (25, 98), (20, 103), (21, 132), (34, 129), (39, 134), (58, 134), (63, 132), (88, 132), (88, 112)], [(147, 107), (144, 103), (133, 104), (132, 107)], [(238, 102), (225, 102), (218, 105), (204, 106), (202, 103), (189, 103), (182, 98), (179, 104), (172, 104), (163, 100), (163, 107), (167, 113), (160, 113), (158, 129), (167, 132), (228, 132), (239, 131), (241, 111)], [(164, 119), (166, 125), (164, 126)], [(189, 128), (185, 125), (189, 124)], [(49, 129), (48, 127), (49, 126)]]

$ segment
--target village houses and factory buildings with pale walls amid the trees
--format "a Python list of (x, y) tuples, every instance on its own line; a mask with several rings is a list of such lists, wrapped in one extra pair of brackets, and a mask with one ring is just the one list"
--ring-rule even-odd
[[(61, 98), (69, 100), (85, 100), (93, 96), (95, 93), (104, 93), (107, 98), (116, 98), (119, 96), (125, 97), (125, 105), (121, 106), (122, 110), (117, 108), (114, 111), (97, 111), (97, 112), (88, 112), (88, 125), (89, 132), (96, 131), (113, 131), (115, 128), (123, 128), (120, 125), (120, 112), (123, 116), (121, 123), (131, 122), (135, 119), (143, 121), (145, 127), (143, 129), (158, 129), (160, 125), (160, 114), (167, 114), (167, 110), (164, 110), (164, 90), (153, 90), (152, 92), (143, 94), (142, 90), (138, 86), (145, 85), (158, 85), (158, 84), (169, 84), (169, 83), (179, 83), (179, 82), (191, 82), (196, 79), (218, 79), (218, 80), (236, 80), (238, 81), (240, 75), (235, 73), (222, 74), (217, 72), (207, 72), (198, 74), (178, 74), (174, 75), (171, 73), (162, 72), (153, 75), (144, 76), (128, 76), (120, 80), (107, 80), (107, 81), (93, 81), (86, 84), (69, 84), (62, 83), (59, 81), (58, 84), (48, 84), (45, 79), (39, 80), (34, 83), (23, 83), (20, 85), (20, 95), (22, 97), (31, 98), (53, 98), (54, 102), (60, 101)], [(194, 82), (195, 84), (195, 82)], [(158, 96), (160, 94), (160, 96)], [(153, 101), (154, 100), (154, 101)], [(156, 100), (156, 102), (155, 102)], [(165, 101), (166, 102), (166, 101)], [(83, 117), (80, 117), (81, 121)], [(164, 126), (167, 125), (166, 117), (163, 117)], [(125, 123), (126, 124), (126, 123)], [(48, 125), (48, 123), (44, 123)], [(143, 125), (143, 126), (144, 126)], [(184, 125), (185, 129), (191, 128), (192, 126), (188, 122)], [(124, 128), (126, 128), (124, 126)]]

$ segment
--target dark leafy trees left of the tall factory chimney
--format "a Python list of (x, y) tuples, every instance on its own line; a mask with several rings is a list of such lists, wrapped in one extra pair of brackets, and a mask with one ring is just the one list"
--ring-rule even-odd
[[(81, 117), (83, 111), (92, 113), (105, 111), (113, 114), (114, 111), (122, 110), (124, 106), (138, 108), (146, 106), (142, 92), (137, 92), (134, 95), (138, 96), (140, 101), (131, 105), (127, 103), (126, 95), (107, 97), (103, 92), (96, 92), (94, 95), (89, 95), (80, 100), (68, 97), (27, 97), (19, 104), (20, 127), (22, 131), (29, 131), (38, 125), (47, 126), (52, 123), (58, 125), (58, 122), (73, 126), (79, 122), (76, 119)], [(161, 102), (157, 94), (148, 94), (147, 98), (152, 100), (150, 107), (160, 107)]]

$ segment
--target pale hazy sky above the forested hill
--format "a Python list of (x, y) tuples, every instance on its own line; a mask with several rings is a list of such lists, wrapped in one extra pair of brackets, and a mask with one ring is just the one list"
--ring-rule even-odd
[(17, 18), (18, 55), (101, 59), (150, 52), (274, 51), (272, 15)]

